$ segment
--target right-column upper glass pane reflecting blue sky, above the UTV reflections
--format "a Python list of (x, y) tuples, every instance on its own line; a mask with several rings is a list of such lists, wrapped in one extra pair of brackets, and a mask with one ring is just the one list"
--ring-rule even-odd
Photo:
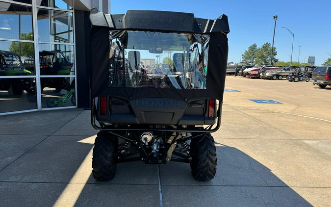
[(39, 41), (74, 43), (72, 12), (38, 9), (37, 15)]

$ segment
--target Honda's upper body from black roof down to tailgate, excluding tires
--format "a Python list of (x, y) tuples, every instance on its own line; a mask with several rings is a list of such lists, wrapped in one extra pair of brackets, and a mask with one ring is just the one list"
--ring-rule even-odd
[(91, 22), (93, 115), (102, 126), (215, 124), (228, 55), (225, 15), (208, 21), (178, 12), (92, 11)]

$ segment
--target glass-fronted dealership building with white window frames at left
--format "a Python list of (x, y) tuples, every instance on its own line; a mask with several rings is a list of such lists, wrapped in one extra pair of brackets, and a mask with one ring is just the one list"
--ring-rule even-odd
[(0, 115), (89, 107), (88, 11), (108, 0), (0, 0)]

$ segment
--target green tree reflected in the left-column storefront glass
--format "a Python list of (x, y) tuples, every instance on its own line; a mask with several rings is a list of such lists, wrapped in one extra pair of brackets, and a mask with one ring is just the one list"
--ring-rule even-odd
[[(21, 33), (21, 39), (29, 39), (32, 32)], [(29, 59), (34, 59), (34, 48), (33, 43), (28, 42), (12, 42), (9, 46), (10, 52), (15, 52), (20, 56), (25, 56)]]

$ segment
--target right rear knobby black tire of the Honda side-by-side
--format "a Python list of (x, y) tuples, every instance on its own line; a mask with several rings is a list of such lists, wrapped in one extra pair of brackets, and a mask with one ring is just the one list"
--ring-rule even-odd
[(191, 140), (191, 172), (198, 181), (209, 181), (216, 174), (216, 147), (210, 133)]

